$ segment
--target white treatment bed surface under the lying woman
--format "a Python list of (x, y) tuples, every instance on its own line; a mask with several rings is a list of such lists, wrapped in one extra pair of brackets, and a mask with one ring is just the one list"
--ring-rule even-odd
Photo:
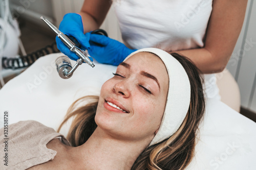
[[(70, 79), (61, 79), (55, 59), (39, 58), (0, 90), (0, 122), (9, 111), (9, 124), (37, 120), (55, 130), (69, 106), (84, 95), (99, 95), (101, 85), (116, 67), (80, 65)], [(75, 61), (72, 61), (74, 65)], [(60, 133), (66, 135), (70, 122)], [(196, 155), (187, 169), (256, 169), (256, 124), (218, 100), (207, 100)]]

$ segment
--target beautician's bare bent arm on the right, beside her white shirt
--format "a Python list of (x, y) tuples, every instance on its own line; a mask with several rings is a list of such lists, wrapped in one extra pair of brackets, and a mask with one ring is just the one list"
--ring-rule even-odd
[(205, 74), (222, 71), (242, 29), (247, 0), (213, 0), (205, 46), (178, 51)]

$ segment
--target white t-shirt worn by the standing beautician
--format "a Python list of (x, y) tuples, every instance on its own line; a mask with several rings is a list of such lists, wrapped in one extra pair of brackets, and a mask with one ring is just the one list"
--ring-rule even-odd
[[(204, 46), (212, 0), (114, 0), (126, 46), (166, 52)], [(208, 98), (220, 99), (214, 74), (204, 75)]]

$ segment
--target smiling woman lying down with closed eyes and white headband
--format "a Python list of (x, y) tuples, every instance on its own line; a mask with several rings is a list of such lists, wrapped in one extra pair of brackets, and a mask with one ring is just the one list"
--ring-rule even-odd
[[(87, 99), (93, 103), (76, 107)], [(71, 106), (61, 124), (75, 117), (67, 139), (32, 120), (10, 125), (10, 159), (1, 169), (184, 169), (204, 107), (194, 64), (144, 48), (117, 67), (99, 97)]]

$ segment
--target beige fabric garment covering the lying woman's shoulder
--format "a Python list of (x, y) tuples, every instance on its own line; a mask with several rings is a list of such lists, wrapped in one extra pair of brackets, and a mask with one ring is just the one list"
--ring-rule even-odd
[(0, 169), (6, 169), (7, 167), (27, 169), (31, 165), (53, 159), (56, 151), (48, 149), (46, 144), (56, 137), (60, 136), (63, 143), (70, 145), (68, 140), (53, 128), (34, 120), (11, 124), (8, 128), (2, 128), (2, 132), (5, 130), (7, 131), (5, 135), (0, 134), (0, 147), (6, 148), (6, 150), (0, 152), (5, 152), (1, 155), (7, 155), (6, 162), (8, 166), (1, 164)]

